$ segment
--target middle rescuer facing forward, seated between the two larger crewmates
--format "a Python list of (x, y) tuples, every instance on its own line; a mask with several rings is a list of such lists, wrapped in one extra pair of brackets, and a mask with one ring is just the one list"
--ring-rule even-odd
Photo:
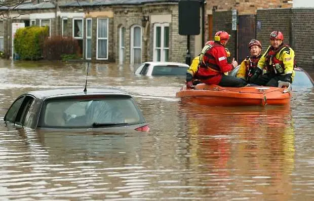
[(256, 70), (259, 70), (257, 69), (257, 63), (262, 56), (262, 44), (256, 39), (252, 39), (248, 47), (250, 56), (247, 56), (247, 58), (241, 62), (237, 77), (250, 82), (252, 75), (255, 74)]

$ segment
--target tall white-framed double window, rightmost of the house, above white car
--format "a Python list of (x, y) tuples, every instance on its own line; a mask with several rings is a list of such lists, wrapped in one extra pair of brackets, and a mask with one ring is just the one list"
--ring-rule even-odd
[(169, 61), (169, 24), (154, 24), (153, 61)]

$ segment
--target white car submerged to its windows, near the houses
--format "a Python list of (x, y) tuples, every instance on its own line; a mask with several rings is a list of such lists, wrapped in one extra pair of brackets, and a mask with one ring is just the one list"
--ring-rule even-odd
[(185, 76), (189, 65), (177, 62), (145, 62), (135, 71), (137, 75), (146, 76)]

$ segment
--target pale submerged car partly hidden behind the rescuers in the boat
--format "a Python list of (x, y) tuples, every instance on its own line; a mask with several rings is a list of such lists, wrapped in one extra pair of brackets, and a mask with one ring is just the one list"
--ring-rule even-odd
[[(235, 67), (230, 73), (230, 76), (237, 76), (237, 73), (240, 69), (240, 65)], [(312, 88), (314, 87), (314, 81), (311, 76), (302, 68), (296, 67), (294, 68), (295, 76), (292, 82), (292, 87), (305, 87)]]

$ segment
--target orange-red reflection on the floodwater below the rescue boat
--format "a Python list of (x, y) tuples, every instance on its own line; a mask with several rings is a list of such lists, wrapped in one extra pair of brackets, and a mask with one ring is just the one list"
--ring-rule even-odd
[[(294, 126), (290, 106), (204, 107), (185, 111), (193, 163), (208, 171), (205, 185), (225, 196), (289, 200), (294, 169)], [(229, 197), (231, 198), (231, 197)]]

